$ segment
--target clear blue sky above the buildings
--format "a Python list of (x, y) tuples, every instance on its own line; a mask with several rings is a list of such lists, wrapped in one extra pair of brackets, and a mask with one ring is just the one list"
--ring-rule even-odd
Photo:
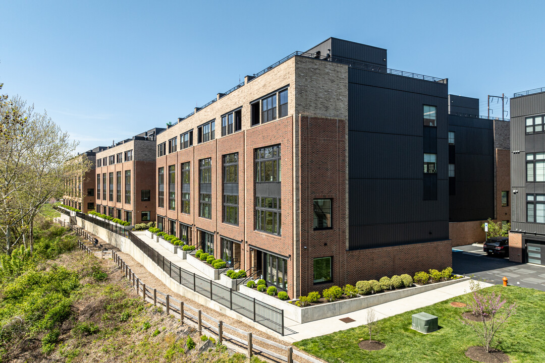
[(0, 13), (2, 93), (47, 110), (78, 151), (164, 127), (330, 36), (449, 78), (481, 114), (489, 94), (545, 87), (545, 1), (4, 0)]

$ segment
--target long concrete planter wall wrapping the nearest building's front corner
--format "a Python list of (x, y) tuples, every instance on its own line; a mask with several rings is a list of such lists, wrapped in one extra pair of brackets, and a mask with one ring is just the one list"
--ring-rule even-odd
[(456, 280), (449, 280), (443, 282), (437, 282), (435, 284), (406, 287), (399, 290), (392, 290), (381, 292), (373, 295), (366, 295), (352, 299), (340, 300), (332, 303), (322, 303), (314, 306), (298, 307), (288, 302), (282, 301), (275, 297), (269, 296), (265, 293), (259, 292), (255, 289), (249, 288), (245, 285), (241, 285), (240, 292), (247, 296), (261, 300), (264, 303), (278, 307), (278, 309), (284, 310), (284, 317), (290, 318), (298, 323), (308, 323), (323, 318), (329, 318), (332, 316), (342, 315), (361, 309), (366, 309), (370, 306), (384, 304), (393, 300), (413, 296), (422, 292), (435, 290), (443, 286), (457, 284), (470, 278), (462, 278)]

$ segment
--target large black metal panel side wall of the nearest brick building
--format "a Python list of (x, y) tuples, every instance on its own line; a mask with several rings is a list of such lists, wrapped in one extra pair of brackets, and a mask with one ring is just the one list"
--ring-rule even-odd
[[(447, 85), (350, 67), (348, 78), (349, 249), (448, 239)], [(437, 106), (427, 145), (424, 105)], [(423, 196), (425, 148), (437, 200)]]

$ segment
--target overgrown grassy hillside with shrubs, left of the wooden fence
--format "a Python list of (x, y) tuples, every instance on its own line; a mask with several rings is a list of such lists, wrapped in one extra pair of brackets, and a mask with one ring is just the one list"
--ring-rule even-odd
[(137, 298), (111, 261), (76, 250), (62, 227), (43, 220), (36, 230), (34, 256), (1, 256), (0, 361), (249, 361)]

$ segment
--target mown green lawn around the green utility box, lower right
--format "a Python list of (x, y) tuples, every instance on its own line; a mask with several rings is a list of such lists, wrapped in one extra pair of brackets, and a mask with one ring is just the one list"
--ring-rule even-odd
[[(545, 292), (516, 286), (493, 286), (485, 290), (499, 291), (509, 304), (518, 305), (516, 315), (496, 335), (496, 348), (508, 354), (511, 362), (545, 362)], [(380, 331), (373, 339), (386, 343), (382, 350), (368, 352), (358, 347), (362, 339), (369, 339), (365, 325), (294, 345), (336, 363), (474, 362), (464, 353), (468, 347), (479, 345), (479, 341), (473, 329), (459, 321), (461, 314), (469, 310), (450, 305), (453, 301), (468, 300), (466, 294), (379, 321)], [(438, 331), (425, 335), (410, 329), (411, 315), (422, 311), (439, 317)]]

